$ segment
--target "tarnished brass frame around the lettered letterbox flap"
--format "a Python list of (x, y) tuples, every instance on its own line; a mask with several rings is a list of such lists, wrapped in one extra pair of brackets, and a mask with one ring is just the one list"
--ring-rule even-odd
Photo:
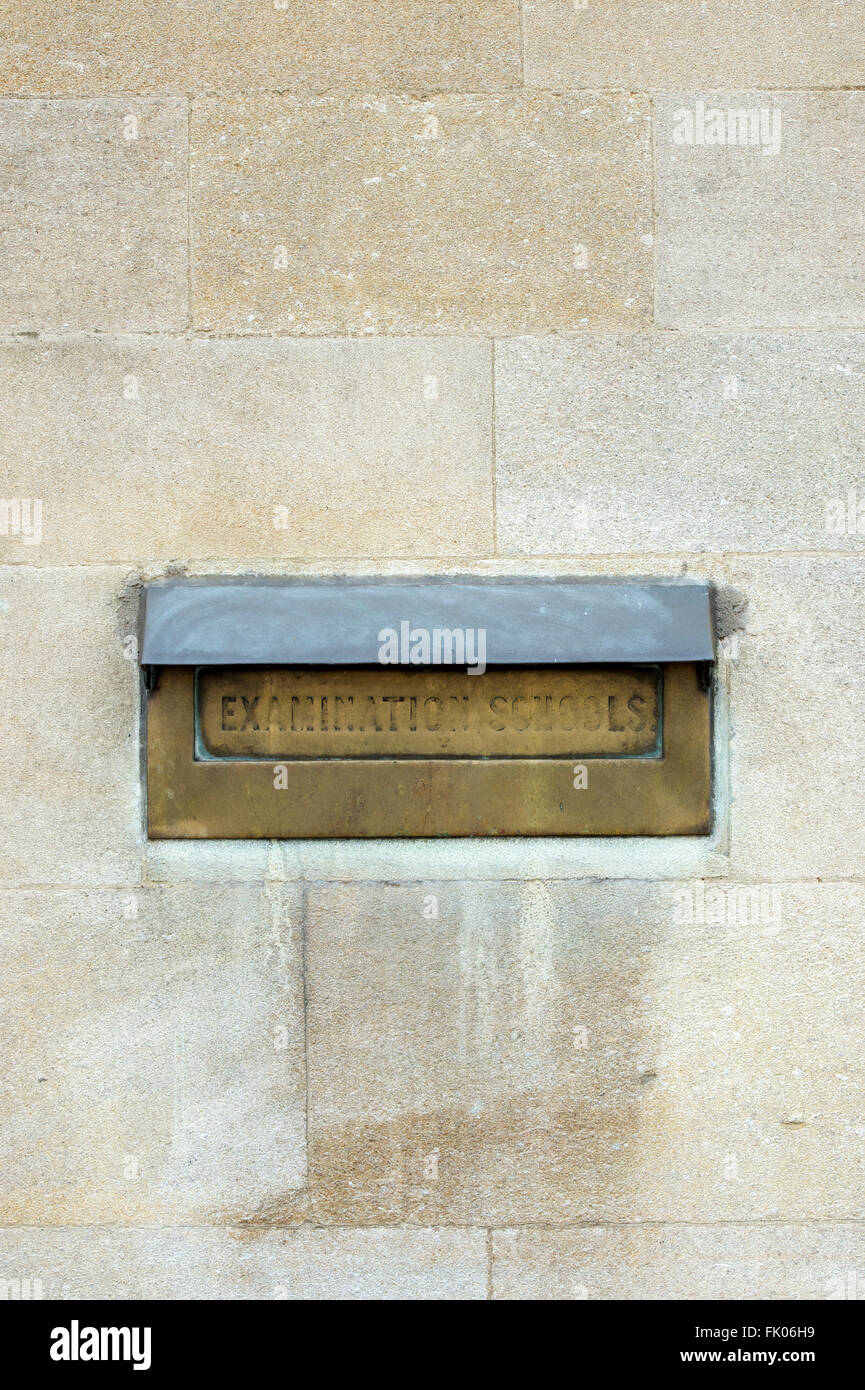
[[(293, 670), (291, 677), (306, 676)], [(330, 680), (339, 673), (332, 671)], [(352, 670), (357, 681), (360, 671)], [(423, 681), (426, 671), (399, 669), (391, 671), (406, 681)], [(438, 682), (459, 673), (431, 673)], [(477, 682), (478, 694), (470, 701), (483, 702), (495, 691), (503, 673), (495, 669), (484, 676), (464, 677)], [(527, 692), (552, 694), (558, 684), (547, 671), (524, 671)], [(622, 678), (634, 680), (636, 669), (606, 667), (604, 671), (559, 669), (555, 681), (598, 680), (609, 684), (608, 695), (616, 698)], [(492, 753), (488, 731), (474, 756), (451, 752), (438, 756), (413, 755), (369, 756), (353, 749), (352, 756), (277, 758), (263, 752), (252, 738), (246, 745), (254, 758), (213, 756), (204, 746), (228, 748), (225, 735), (273, 738), (282, 742), (285, 730), (221, 730), (221, 696), (225, 671), (202, 673), (206, 699), (217, 701), (216, 730), (213, 713), (203, 716), (196, 730), (196, 676), (191, 667), (164, 667), (147, 701), (147, 824), (149, 834), (164, 838), (350, 838), (350, 837), (424, 837), (424, 835), (700, 835), (709, 831), (711, 801), (711, 705), (691, 663), (661, 667), (661, 674), (644, 667), (640, 680), (659, 680), (659, 730), (651, 752), (631, 742), (631, 752), (594, 755), (585, 749), (585, 735), (599, 730), (574, 730), (567, 756), (540, 755), (537, 748), (510, 741), (506, 752)], [(254, 673), (261, 681), (264, 670)], [(370, 678), (385, 680), (380, 670)], [(513, 673), (508, 680), (513, 678)], [(291, 689), (275, 674), (267, 673), (274, 689)], [(545, 682), (538, 685), (537, 682)], [(533, 685), (533, 681), (535, 682)], [(487, 682), (487, 685), (484, 685)], [(490, 684), (492, 682), (492, 684)], [(250, 687), (252, 689), (253, 687)], [(389, 688), (389, 687), (388, 687)], [(563, 688), (563, 687), (562, 687)], [(574, 687), (576, 689), (577, 687)], [(584, 687), (588, 691), (588, 687)], [(604, 689), (606, 687), (602, 687)], [(239, 689), (239, 687), (238, 687)], [(508, 689), (520, 698), (517, 685)], [(481, 694), (481, 692), (485, 692)], [(420, 694), (420, 689), (419, 689)], [(249, 698), (249, 696), (248, 696)], [(519, 706), (517, 706), (519, 708)], [(619, 710), (616, 703), (615, 710)], [(480, 705), (478, 705), (480, 709)], [(608, 706), (609, 709), (609, 706)], [(617, 720), (622, 723), (622, 720)], [(470, 720), (471, 724), (471, 720)], [(651, 730), (611, 730), (605, 738), (647, 738)], [(307, 731), (309, 733), (309, 731)], [(313, 733), (316, 733), (313, 730)], [(318, 730), (321, 733), (321, 730)], [(409, 731), (410, 735), (412, 731)], [(417, 733), (417, 731), (416, 731)], [(439, 733), (426, 730), (426, 734)], [(449, 731), (460, 738), (466, 730)], [(492, 731), (495, 733), (495, 731)], [(515, 730), (513, 734), (527, 734)], [(558, 737), (556, 730), (535, 730), (531, 738)], [(278, 739), (277, 739), (278, 734)], [(364, 731), (370, 738), (377, 731)], [(202, 735), (197, 737), (196, 735)], [(270, 746), (270, 745), (268, 745)], [(520, 746), (526, 751), (522, 752)], [(273, 760), (271, 760), (273, 758)], [(580, 762), (583, 758), (587, 760)], [(584, 774), (576, 771), (576, 764)], [(584, 784), (584, 785), (583, 785)]]

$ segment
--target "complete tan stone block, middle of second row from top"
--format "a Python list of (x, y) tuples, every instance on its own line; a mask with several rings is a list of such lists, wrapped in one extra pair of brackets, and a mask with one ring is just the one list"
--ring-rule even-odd
[(196, 101), (196, 325), (637, 327), (649, 153), (623, 95)]

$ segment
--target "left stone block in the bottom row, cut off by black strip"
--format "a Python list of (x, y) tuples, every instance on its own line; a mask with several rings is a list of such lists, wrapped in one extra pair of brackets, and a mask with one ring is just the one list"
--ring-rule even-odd
[[(484, 1298), (483, 1230), (0, 1230), (0, 1280), (45, 1298)], [(13, 1290), (14, 1291), (14, 1290)]]

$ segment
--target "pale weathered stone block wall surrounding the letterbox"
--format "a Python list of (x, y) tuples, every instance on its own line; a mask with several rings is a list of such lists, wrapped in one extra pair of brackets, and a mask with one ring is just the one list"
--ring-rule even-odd
[[(0, 1291), (864, 1297), (865, 7), (0, 33)], [(245, 571), (712, 581), (712, 835), (149, 844)]]

